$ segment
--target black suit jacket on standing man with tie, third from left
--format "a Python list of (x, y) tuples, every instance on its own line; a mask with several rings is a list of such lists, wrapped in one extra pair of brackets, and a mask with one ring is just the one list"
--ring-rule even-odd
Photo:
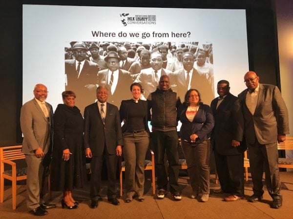
[(105, 125), (98, 104), (84, 109), (84, 149), (90, 148), (93, 156), (101, 156), (106, 146), (109, 154), (116, 154), (116, 147), (123, 145), (118, 108), (107, 102)]

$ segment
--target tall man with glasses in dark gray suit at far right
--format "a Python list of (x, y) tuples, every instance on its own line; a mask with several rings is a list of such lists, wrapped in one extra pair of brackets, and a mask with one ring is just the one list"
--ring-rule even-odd
[(279, 89), (274, 85), (259, 84), (255, 72), (247, 72), (244, 82), (248, 89), (238, 97), (242, 102), (253, 182), (253, 195), (248, 201), (262, 199), (264, 170), (267, 189), (273, 199), (271, 207), (279, 208), (282, 206), (282, 196), (277, 141), (285, 141), (286, 134), (289, 134), (288, 110)]

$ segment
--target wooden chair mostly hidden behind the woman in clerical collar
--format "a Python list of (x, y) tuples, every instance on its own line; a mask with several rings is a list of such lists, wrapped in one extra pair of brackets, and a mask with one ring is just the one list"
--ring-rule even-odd
[[(153, 195), (156, 193), (156, 183), (155, 183), (155, 155), (154, 152), (150, 149), (151, 160), (145, 160), (145, 170), (151, 170), (151, 184)], [(123, 177), (122, 172), (125, 171), (125, 161), (120, 160), (120, 196), (123, 195), (122, 185)]]

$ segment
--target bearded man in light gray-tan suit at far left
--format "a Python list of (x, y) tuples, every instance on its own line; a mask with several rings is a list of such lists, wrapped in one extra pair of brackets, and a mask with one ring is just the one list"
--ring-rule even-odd
[(42, 216), (55, 204), (45, 202), (52, 151), (53, 109), (45, 102), (48, 91), (43, 84), (34, 89), (35, 98), (21, 107), (22, 152), (27, 164), (27, 207), (29, 213)]

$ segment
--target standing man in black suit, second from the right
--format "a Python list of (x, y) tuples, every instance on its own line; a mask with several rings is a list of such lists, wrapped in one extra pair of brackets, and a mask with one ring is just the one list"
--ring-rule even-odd
[(217, 92), (219, 97), (210, 103), (215, 119), (211, 139), (221, 188), (214, 193), (230, 193), (224, 200), (237, 201), (244, 196), (243, 116), (238, 98), (230, 93), (229, 81), (219, 81)]

